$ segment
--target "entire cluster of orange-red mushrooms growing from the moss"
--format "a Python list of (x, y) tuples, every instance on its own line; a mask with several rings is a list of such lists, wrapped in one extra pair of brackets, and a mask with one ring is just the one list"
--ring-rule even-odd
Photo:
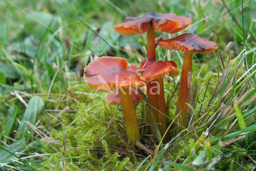
[[(84, 68), (84, 81), (98, 91), (112, 91), (108, 93), (106, 101), (110, 104), (122, 104), (128, 142), (134, 147), (140, 141), (138, 121), (134, 103), (142, 100), (138, 88), (146, 85), (146, 94), (152, 111), (150, 123), (158, 128), (161, 136), (166, 131), (166, 106), (164, 99), (163, 77), (177, 76), (177, 65), (173, 61), (156, 61), (156, 46), (164, 49), (184, 52), (184, 60), (180, 78), (180, 89), (177, 101), (178, 125), (181, 129), (188, 124), (188, 104), (192, 104), (191, 72), (192, 54), (208, 54), (217, 49), (214, 42), (206, 40), (192, 33), (185, 33), (178, 37), (162, 40), (162, 36), (155, 39), (155, 30), (177, 33), (186, 28), (192, 21), (176, 14), (155, 14), (149, 12), (141, 18), (125, 18), (125, 22), (114, 26), (121, 35), (135, 35), (147, 32), (147, 60), (128, 67), (124, 58), (103, 56), (92, 61)], [(152, 129), (155, 131), (156, 129)], [(164, 138), (164, 143), (167, 138)]]

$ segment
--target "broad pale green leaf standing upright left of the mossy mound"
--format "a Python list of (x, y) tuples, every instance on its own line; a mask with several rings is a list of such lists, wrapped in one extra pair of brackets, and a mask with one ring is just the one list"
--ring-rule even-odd
[[(34, 125), (36, 123), (38, 115), (42, 112), (43, 109), (44, 101), (38, 96), (33, 96), (28, 102), (28, 107), (24, 112), (20, 126), (18, 127), (18, 131), (21, 133), (20, 138), (24, 137), (24, 133), (27, 130), (26, 126), (28, 124), (26, 123), (26, 121), (29, 121)], [(25, 138), (27, 140), (29, 137), (26, 136)]]

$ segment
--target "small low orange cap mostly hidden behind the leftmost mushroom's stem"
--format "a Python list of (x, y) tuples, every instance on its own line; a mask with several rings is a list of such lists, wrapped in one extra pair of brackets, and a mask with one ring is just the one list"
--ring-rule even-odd
[[(134, 104), (139, 103), (142, 101), (142, 96), (136, 91), (134, 88), (129, 88), (130, 95), (132, 97), (132, 102)], [(119, 91), (114, 89), (114, 91), (107, 94), (106, 102), (110, 103), (111, 105), (119, 105), (122, 104), (121, 97)]]

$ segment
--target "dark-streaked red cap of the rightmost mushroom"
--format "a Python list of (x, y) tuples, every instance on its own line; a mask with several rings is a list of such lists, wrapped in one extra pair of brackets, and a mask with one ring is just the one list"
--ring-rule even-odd
[(188, 54), (208, 54), (218, 49), (214, 42), (193, 33), (185, 33), (176, 38), (161, 40), (158, 45), (164, 49), (180, 50)]

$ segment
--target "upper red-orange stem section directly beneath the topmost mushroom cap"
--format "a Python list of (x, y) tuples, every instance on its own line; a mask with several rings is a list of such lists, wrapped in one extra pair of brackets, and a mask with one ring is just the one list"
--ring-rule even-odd
[(155, 30), (152, 26), (150, 26), (150, 24), (147, 32), (147, 59), (149, 61), (155, 61), (156, 60)]

